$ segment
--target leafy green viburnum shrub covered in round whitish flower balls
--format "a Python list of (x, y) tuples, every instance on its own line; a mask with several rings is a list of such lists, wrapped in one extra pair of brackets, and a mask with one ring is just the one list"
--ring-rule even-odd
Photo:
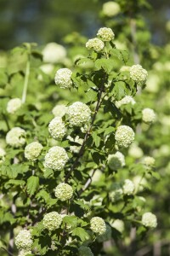
[(131, 227), (139, 237), (156, 228), (142, 194), (155, 161), (143, 154), (126, 161), (145, 121), (133, 97), (144, 88), (147, 71), (116, 48), (111, 28), (94, 37), (84, 44), (88, 55), (49, 74), (34, 45), (11, 53), (26, 70), (19, 63), (4, 74), (15, 100), (21, 96), (16, 85), (24, 85), (21, 104), (7, 96), (1, 109), (1, 234), (10, 233), (3, 243), (9, 253), (106, 255), (105, 241), (121, 242)]

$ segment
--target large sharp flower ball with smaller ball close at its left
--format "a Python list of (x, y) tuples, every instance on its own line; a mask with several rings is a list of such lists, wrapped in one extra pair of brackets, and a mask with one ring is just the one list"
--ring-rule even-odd
[(69, 160), (69, 157), (66, 154), (65, 148), (54, 146), (50, 148), (48, 153), (45, 155), (44, 166), (51, 168), (54, 171), (61, 171), (67, 160)]

